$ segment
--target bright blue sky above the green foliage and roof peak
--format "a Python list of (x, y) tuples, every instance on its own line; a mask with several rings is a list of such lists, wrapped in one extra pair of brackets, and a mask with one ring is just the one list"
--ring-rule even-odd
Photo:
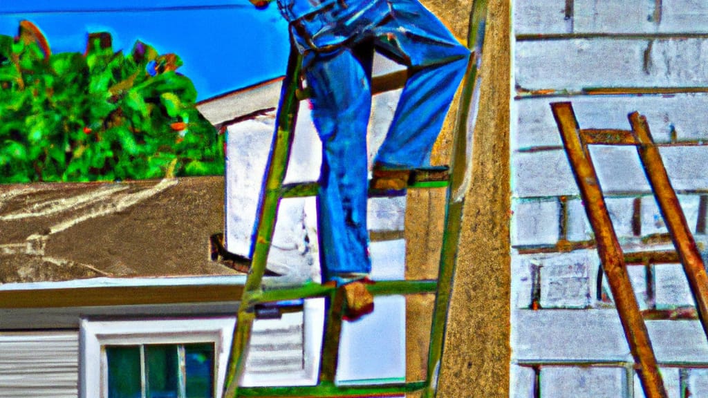
[(179, 72), (194, 82), (198, 99), (285, 73), (287, 25), (271, 4), (248, 0), (0, 0), (0, 34), (16, 35), (20, 21), (42, 30), (52, 52), (84, 52), (86, 34), (108, 31), (114, 50), (142, 40), (174, 52)]

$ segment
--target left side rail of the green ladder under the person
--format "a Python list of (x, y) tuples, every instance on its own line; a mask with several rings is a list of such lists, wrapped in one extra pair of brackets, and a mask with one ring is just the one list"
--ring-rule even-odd
[(278, 217), (280, 205), (280, 191), (287, 171), (287, 160), (290, 157), (295, 122), (299, 101), (295, 96), (299, 85), (301, 57), (294, 45), (290, 45), (290, 56), (287, 62), (287, 74), (282, 83), (280, 106), (275, 120), (273, 142), (268, 156), (268, 169), (265, 173), (265, 182), (261, 192), (261, 208), (258, 213), (258, 227), (256, 232), (256, 245), (253, 251), (251, 268), (244, 285), (241, 305), (236, 317), (236, 327), (232, 340), (232, 349), (227, 367), (227, 378), (224, 383), (224, 398), (235, 398), (238, 394), (239, 380), (246, 365), (249, 341), (255, 312), (253, 308), (243, 305), (249, 302), (249, 296), (261, 291), (261, 281), (268, 263), (275, 221)]

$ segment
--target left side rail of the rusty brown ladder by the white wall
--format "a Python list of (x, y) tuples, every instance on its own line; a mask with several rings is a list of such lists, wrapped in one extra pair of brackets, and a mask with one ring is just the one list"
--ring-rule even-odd
[(641, 317), (639, 304), (636, 302), (632, 283), (629, 281), (624, 254), (619, 246), (610, 214), (607, 212), (605, 198), (600, 188), (592, 160), (583, 150), (579, 134), (578, 121), (571, 103), (552, 103), (553, 115), (561, 132), (566, 154), (573, 170), (581, 198), (585, 204), (590, 225), (595, 232), (598, 255), (607, 275), (607, 282), (615, 299), (615, 306), (624, 329), (629, 350), (634, 361), (639, 365), (636, 370), (642, 389), (647, 398), (666, 398), (666, 390), (658, 370), (649, 332)]

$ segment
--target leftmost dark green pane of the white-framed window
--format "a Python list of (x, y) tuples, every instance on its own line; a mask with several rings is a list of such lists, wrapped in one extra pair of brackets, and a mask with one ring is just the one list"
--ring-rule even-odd
[(108, 398), (140, 398), (140, 347), (107, 346)]

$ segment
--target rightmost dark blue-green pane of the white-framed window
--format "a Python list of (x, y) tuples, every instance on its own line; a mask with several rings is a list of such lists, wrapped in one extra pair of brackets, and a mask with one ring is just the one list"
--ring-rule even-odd
[(214, 397), (214, 344), (185, 344), (187, 398)]

